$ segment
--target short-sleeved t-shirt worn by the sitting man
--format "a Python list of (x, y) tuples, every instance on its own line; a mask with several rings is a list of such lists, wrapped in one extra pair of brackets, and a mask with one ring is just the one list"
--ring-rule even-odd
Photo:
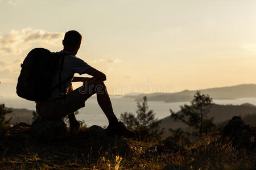
[[(56, 87), (52, 91), (51, 97), (49, 99), (55, 99), (56, 97), (63, 96), (65, 94), (68, 94), (68, 92), (72, 91), (73, 87), (71, 81), (74, 74), (84, 74), (85, 70), (90, 67), (86, 62), (84, 62), (84, 60), (77, 58), (76, 56), (73, 56), (68, 52), (61, 50), (57, 53), (67, 53), (67, 55), (64, 56), (63, 70), (57, 70), (55, 75), (53, 76), (52, 87), (55, 87), (57, 86), (57, 84), (60, 83), (59, 76), (61, 77), (61, 82), (70, 77), (71, 79), (69, 79), (66, 83), (61, 84), (61, 90), (59, 89), (59, 87)], [(59, 65), (61, 60), (62, 59), (59, 59)]]

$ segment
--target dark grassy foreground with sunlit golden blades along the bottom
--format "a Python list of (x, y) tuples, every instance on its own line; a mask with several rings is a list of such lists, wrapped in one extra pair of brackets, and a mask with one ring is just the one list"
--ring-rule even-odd
[[(183, 169), (250, 169), (256, 167), (256, 154), (222, 143), (218, 136), (200, 138), (186, 150), (146, 156), (149, 147), (160, 142), (126, 139), (126, 154), (71, 145), (69, 142), (32, 144), (11, 143), (2, 155), (0, 169), (162, 169), (174, 164)], [(157, 148), (155, 148), (157, 150)]]

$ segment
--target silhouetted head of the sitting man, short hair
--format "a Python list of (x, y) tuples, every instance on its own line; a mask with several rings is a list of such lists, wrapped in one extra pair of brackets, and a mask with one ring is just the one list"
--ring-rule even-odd
[(80, 48), (81, 41), (81, 34), (75, 30), (71, 30), (65, 33), (65, 37), (62, 41), (62, 44), (64, 46), (64, 50), (68, 51), (69, 53), (72, 53), (75, 56)]

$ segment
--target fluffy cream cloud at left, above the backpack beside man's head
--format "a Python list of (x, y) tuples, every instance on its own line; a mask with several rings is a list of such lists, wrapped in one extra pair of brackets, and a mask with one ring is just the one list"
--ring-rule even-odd
[(39, 45), (56, 45), (63, 38), (63, 32), (47, 32), (42, 29), (24, 28), (21, 31), (12, 29), (5, 35), (0, 35), (0, 53), (20, 54), (31, 48), (35, 43)]

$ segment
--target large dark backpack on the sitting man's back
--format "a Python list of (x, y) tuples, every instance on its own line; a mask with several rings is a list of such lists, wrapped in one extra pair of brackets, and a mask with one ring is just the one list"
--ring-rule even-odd
[[(27, 100), (42, 101), (51, 96), (52, 90), (67, 82), (64, 80), (52, 87), (53, 76), (57, 70), (63, 69), (64, 56), (68, 53), (52, 53), (44, 48), (35, 48), (27, 54), (20, 65), (22, 70), (16, 86), (16, 94)], [(59, 65), (58, 61), (62, 59)]]

